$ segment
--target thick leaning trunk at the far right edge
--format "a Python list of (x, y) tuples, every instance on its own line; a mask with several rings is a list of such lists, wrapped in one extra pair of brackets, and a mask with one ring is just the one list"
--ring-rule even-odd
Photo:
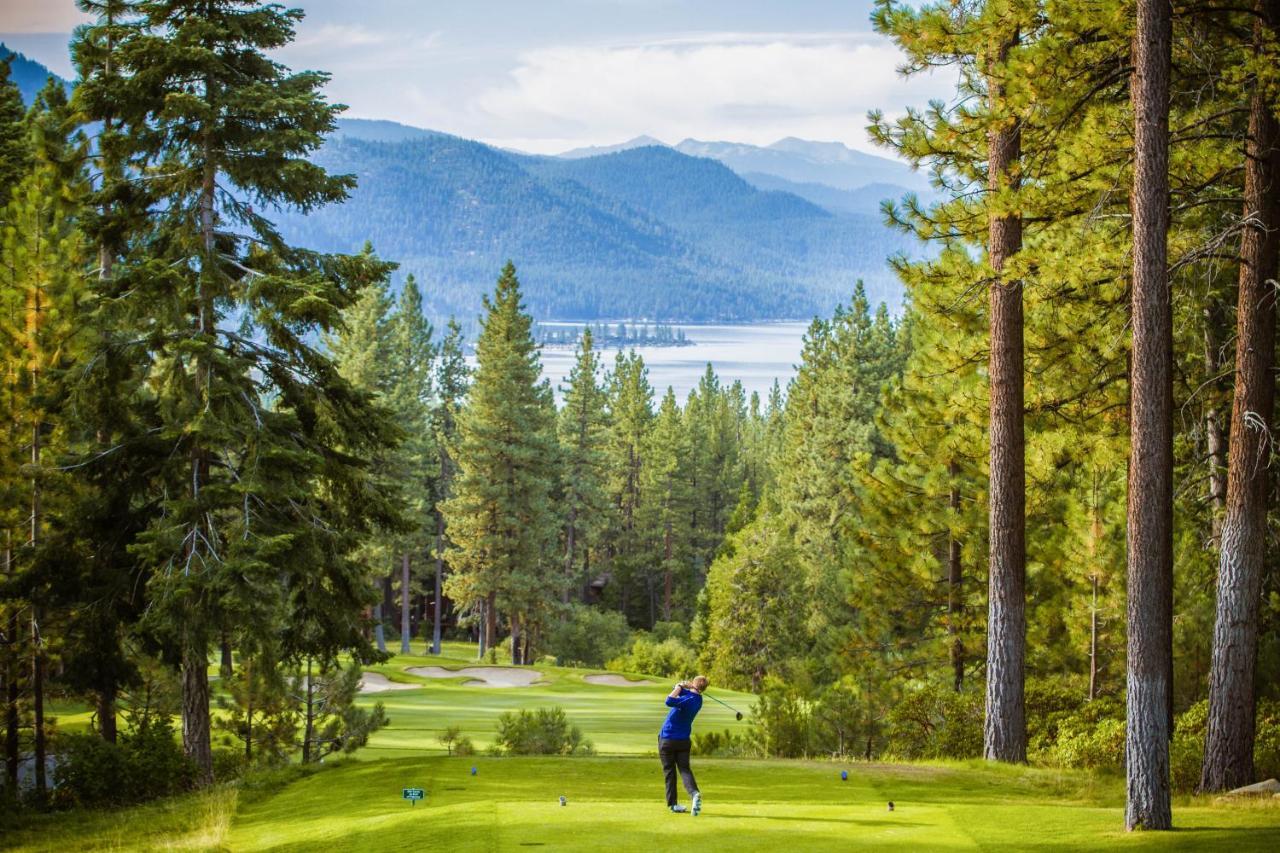
[[(1261, 53), (1280, 27), (1280, 0), (1260, 0), (1253, 37)], [(1270, 32), (1268, 32), (1270, 31)], [(1201, 789), (1228, 790), (1253, 777), (1258, 608), (1267, 537), (1267, 475), (1275, 397), (1275, 279), (1280, 256), (1280, 128), (1261, 82), (1249, 104), (1244, 236), (1236, 309), (1235, 396), (1217, 569), (1217, 615), (1208, 683)]]

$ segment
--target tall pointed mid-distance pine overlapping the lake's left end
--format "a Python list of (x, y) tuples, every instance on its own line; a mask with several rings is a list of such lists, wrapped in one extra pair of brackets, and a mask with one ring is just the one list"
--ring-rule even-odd
[(539, 383), (532, 320), (509, 261), (485, 311), (475, 377), (458, 412), (454, 493), (444, 505), (452, 555), (445, 590), (463, 606), (484, 605), (485, 648), (497, 639), (500, 607), (511, 624), (512, 663), (521, 663), (521, 625), (536, 620), (556, 589), (554, 410), (549, 387)]

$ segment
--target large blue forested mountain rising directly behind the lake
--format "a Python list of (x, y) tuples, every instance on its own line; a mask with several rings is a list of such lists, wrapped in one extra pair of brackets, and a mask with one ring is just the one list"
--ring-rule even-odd
[(283, 214), (280, 227), (319, 250), (372, 241), (422, 280), (434, 315), (474, 316), (507, 259), (543, 319), (808, 318), (858, 278), (873, 298), (900, 300), (884, 259), (911, 248), (904, 237), (712, 160), (654, 146), (564, 160), (443, 133), (353, 136), (366, 131), (346, 128), (316, 155), (358, 178), (351, 200)]

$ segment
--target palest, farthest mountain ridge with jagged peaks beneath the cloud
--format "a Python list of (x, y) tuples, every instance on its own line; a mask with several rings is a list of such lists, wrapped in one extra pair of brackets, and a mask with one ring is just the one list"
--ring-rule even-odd
[(840, 142), (786, 138), (767, 147), (740, 142), (685, 140), (677, 151), (719, 160), (739, 174), (768, 174), (796, 183), (819, 183), (837, 190), (859, 190), (882, 183), (908, 191), (928, 190), (925, 175), (897, 160), (877, 158)]

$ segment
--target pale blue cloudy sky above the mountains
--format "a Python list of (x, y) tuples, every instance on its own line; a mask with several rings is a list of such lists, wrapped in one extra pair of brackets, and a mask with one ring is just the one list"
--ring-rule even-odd
[[(641, 133), (865, 151), (865, 114), (947, 93), (902, 79), (869, 0), (297, 0), (279, 58), (333, 74), (347, 115), (530, 151)], [(70, 74), (73, 0), (0, 0), (0, 38)]]

